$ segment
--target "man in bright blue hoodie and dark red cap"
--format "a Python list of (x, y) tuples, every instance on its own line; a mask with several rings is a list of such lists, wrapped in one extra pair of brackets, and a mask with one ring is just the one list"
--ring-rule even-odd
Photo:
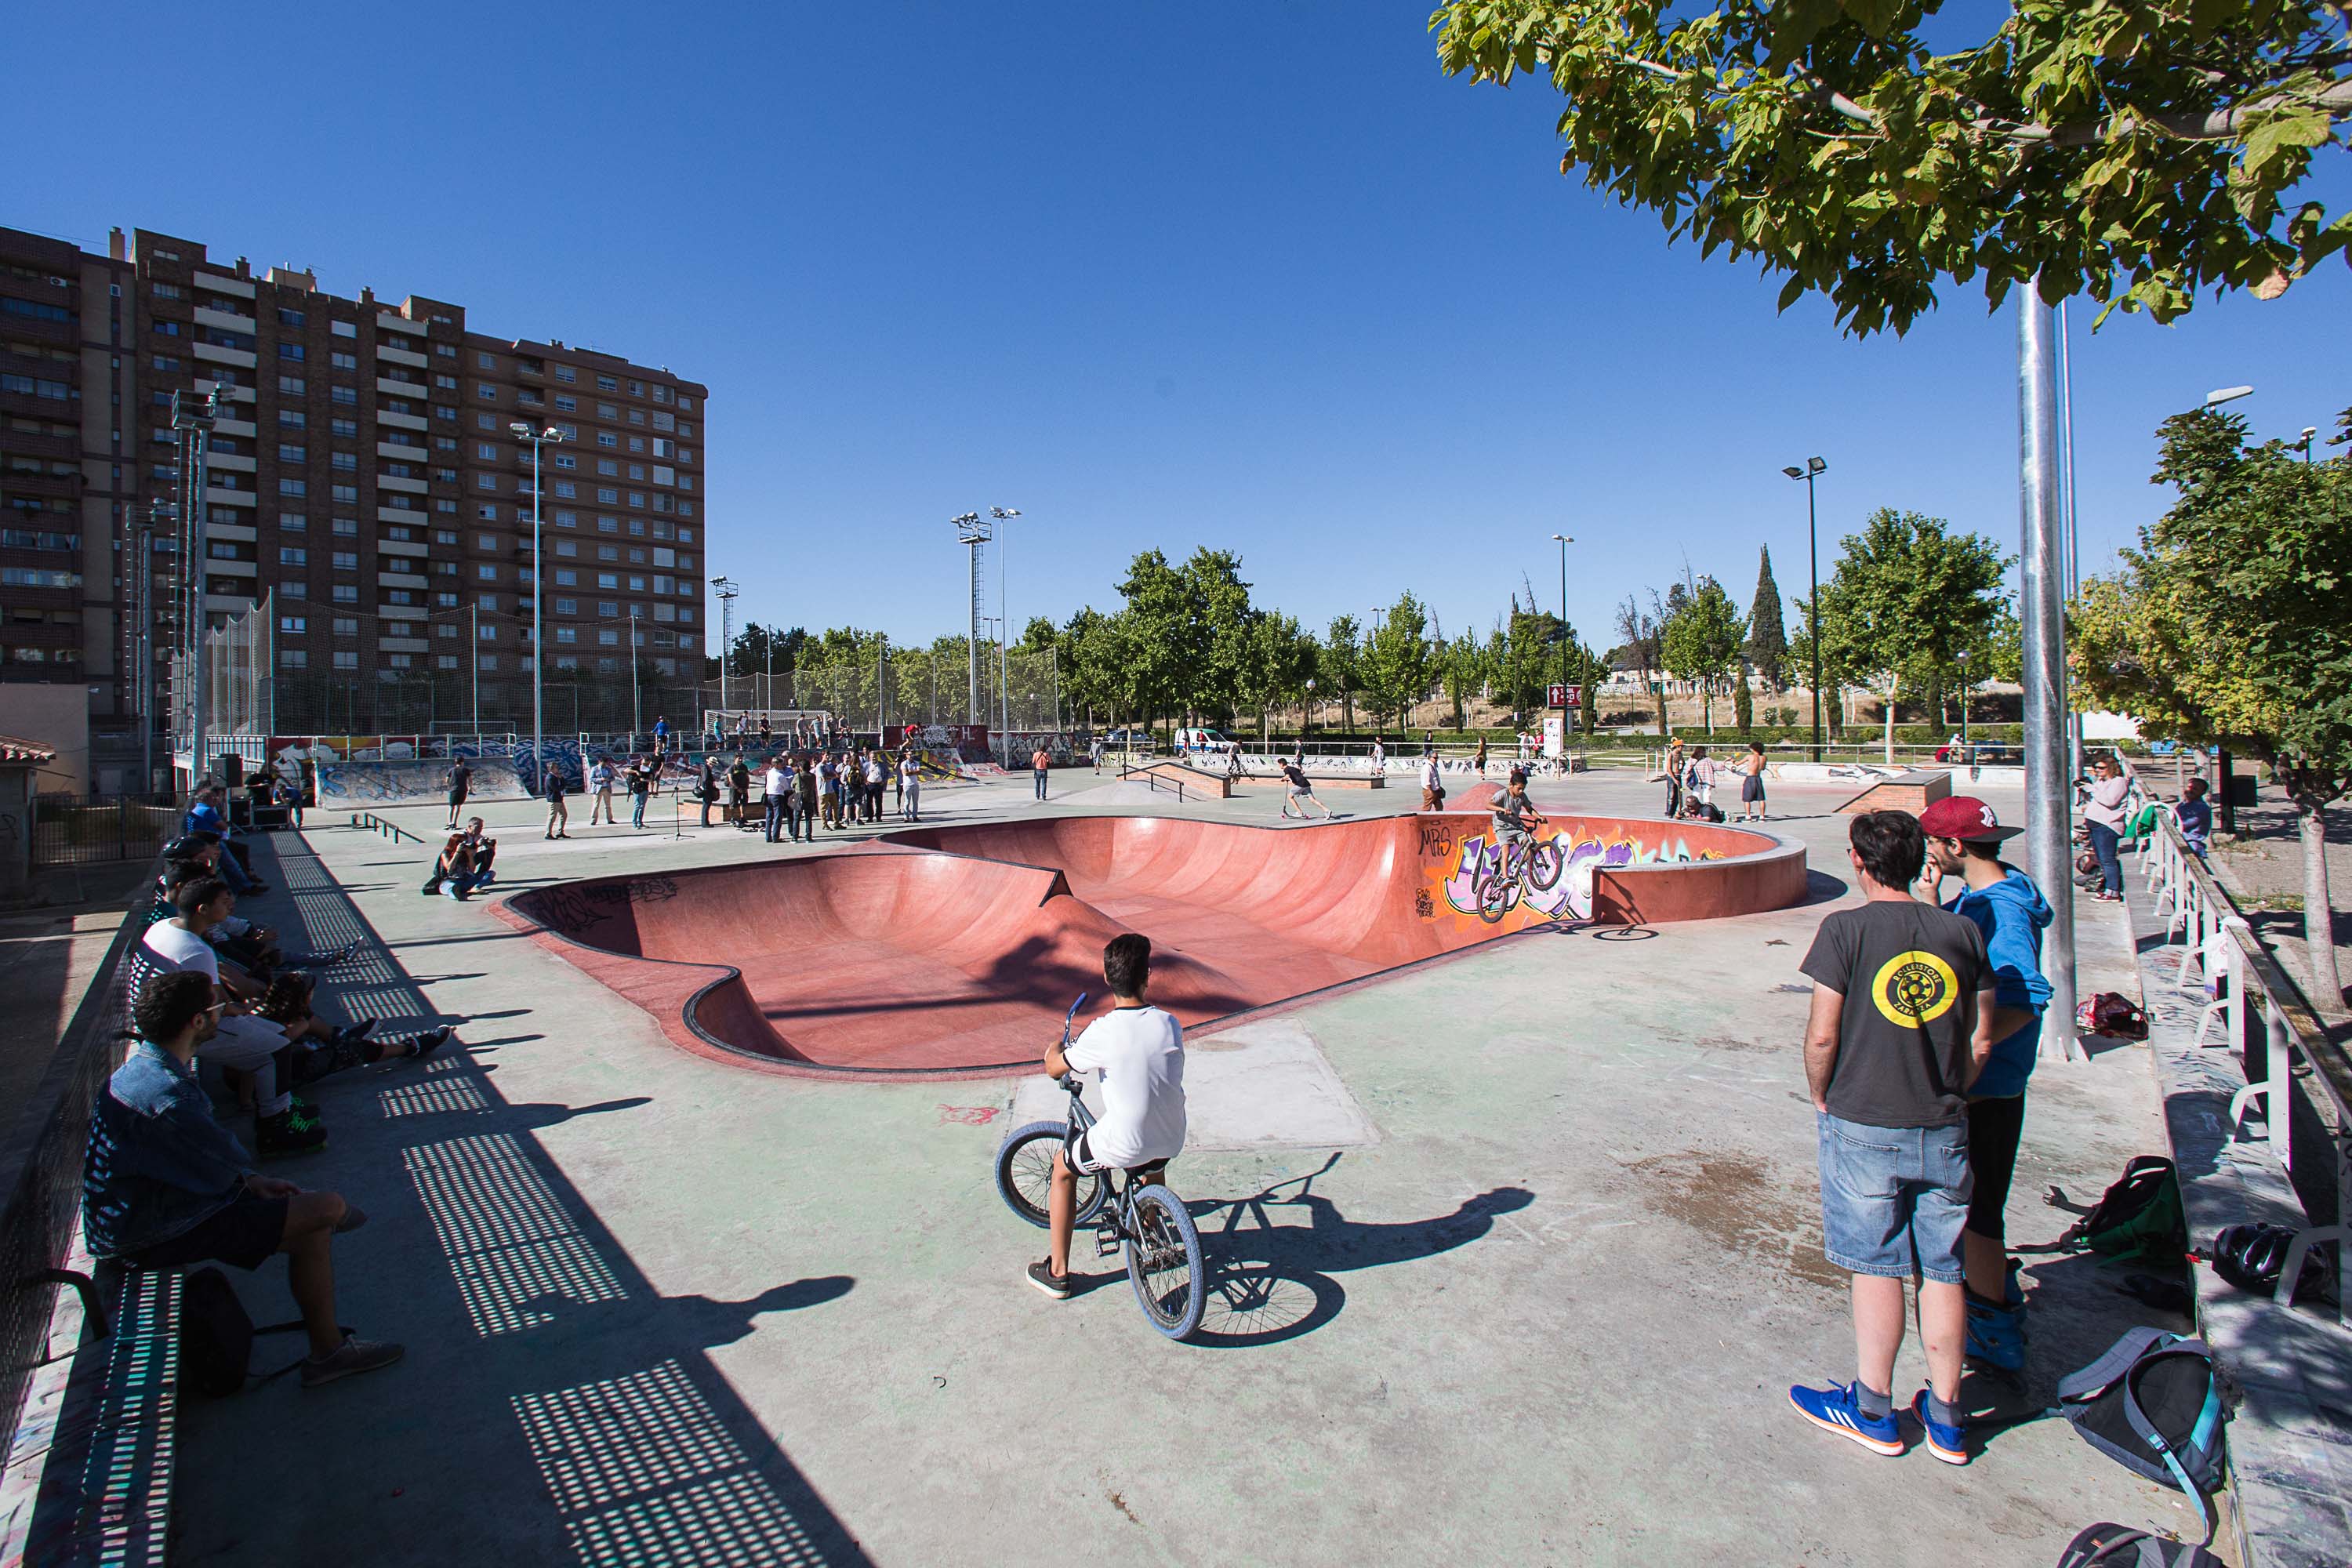
[(1947, 795), (1919, 813), (1926, 835), (1926, 875), (1919, 891), (1943, 903), (1943, 879), (1959, 877), (1959, 898), (1943, 907), (1976, 922), (1992, 959), (1994, 999), (1992, 1060), (1969, 1086), (1969, 1166), (1976, 1192), (1962, 1229), (1962, 1262), (1969, 1284), (1969, 1354), (2018, 1371), (2025, 1366), (2025, 1295), (2009, 1279), (2009, 1178), (2025, 1131), (2025, 1079), (2042, 1051), (2042, 1011), (2051, 983), (2042, 976), (2042, 929), (2051, 924), (2049, 900), (2032, 877), (2002, 860), (2002, 842), (2018, 827), (2002, 827), (1992, 806), (1973, 795)]

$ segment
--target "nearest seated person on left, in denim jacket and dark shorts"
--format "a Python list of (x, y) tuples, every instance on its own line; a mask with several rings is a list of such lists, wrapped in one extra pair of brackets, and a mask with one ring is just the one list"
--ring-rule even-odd
[(151, 978), (132, 1006), (132, 1046), (92, 1107), (82, 1161), (82, 1232), (96, 1258), (136, 1269), (219, 1260), (259, 1269), (287, 1255), (310, 1354), (303, 1387), (372, 1373), (400, 1345), (343, 1333), (334, 1314), (332, 1241), (367, 1215), (336, 1192), (303, 1192), (254, 1171), (195, 1081), (195, 1048), (219, 1027), (212, 983), (193, 971)]

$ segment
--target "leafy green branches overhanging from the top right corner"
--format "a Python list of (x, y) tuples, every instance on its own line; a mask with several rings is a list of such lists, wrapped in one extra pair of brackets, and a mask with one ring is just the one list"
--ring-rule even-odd
[[(2171, 320), (2199, 287), (2284, 289), (2352, 226), (2288, 202), (2343, 141), (2352, 78), (2324, 0), (2018, 0), (1976, 42), (1933, 0), (1456, 0), (1446, 73), (1541, 73), (1559, 172), (1705, 254), (1903, 331), (1945, 277), (2039, 277)], [(1933, 42), (1929, 38), (1933, 31)]]

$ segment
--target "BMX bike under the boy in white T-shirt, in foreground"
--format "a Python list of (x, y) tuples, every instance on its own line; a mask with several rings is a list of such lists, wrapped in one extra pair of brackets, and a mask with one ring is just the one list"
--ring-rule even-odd
[[(1061, 1020), (1061, 1044), (1070, 1046), (1070, 1023), (1087, 1004), (1080, 994)], [(1094, 1126), (1075, 1072), (1056, 1079), (1070, 1095), (1068, 1121), (1030, 1121), (1016, 1126), (997, 1147), (997, 1197), (1030, 1225), (1049, 1225), (1047, 1197), (1054, 1190), (1054, 1154), (1063, 1152), (1077, 1171), (1077, 1140)], [(1169, 1161), (1155, 1159), (1131, 1171), (1077, 1171), (1077, 1208), (1073, 1229), (1091, 1225), (1098, 1258), (1122, 1255), (1127, 1284), (1152, 1328), (1183, 1340), (1200, 1328), (1207, 1307), (1207, 1269), (1200, 1260), (1200, 1229), (1192, 1215), (1167, 1187)]]

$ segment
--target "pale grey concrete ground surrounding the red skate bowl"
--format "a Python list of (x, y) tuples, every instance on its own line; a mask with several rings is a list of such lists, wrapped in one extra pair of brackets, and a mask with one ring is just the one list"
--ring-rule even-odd
[[(1098, 783), (1075, 769), (1044, 806), (1028, 780), (924, 806), (1084, 811)], [(1658, 795), (1536, 785), (1538, 806), (1590, 813), (1653, 813)], [(2046, 1563), (2100, 1519), (2194, 1530), (2178, 1495), (2063, 1422), (1950, 1469), (1788, 1408), (1790, 1382), (1853, 1366), (1820, 1260), (1797, 973), (1820, 914), (1856, 896), (1846, 795), (1773, 790), (1769, 827), (1811, 851), (1806, 905), (1529, 931), (1204, 1034), (1171, 1171), (1211, 1274), (1188, 1345), (1145, 1326), (1084, 1234), (1073, 1300), (1023, 1281), (1044, 1237), (997, 1201), (990, 1157), (1051, 1110), (1042, 1079), (811, 1081), (691, 1056), (482, 903), (421, 898), (426, 846), (313, 811), (306, 839), (261, 839), (278, 891), (254, 912), (289, 943), (365, 938), (336, 999), (456, 1023), (466, 1048), (329, 1079), (329, 1150), (273, 1166), (367, 1208), (336, 1244), (341, 1316), (407, 1359), (183, 1406), (174, 1552), (1943, 1566)], [(1277, 806), (1251, 790), (1164, 809)], [(499, 891), (809, 853), (724, 827), (677, 839), (666, 804), (659, 832), (588, 830), (574, 797), (560, 844), (532, 802), (477, 811)], [(445, 820), (376, 813), (428, 837)], [(2086, 907), (2082, 947), (2084, 994), (2133, 987), (2112, 910)], [(2161, 1150), (2143, 1048), (2044, 1063), (2011, 1239), (2072, 1218), (2042, 1206), (2049, 1185), (2096, 1197)], [(2185, 1326), (2089, 1258), (2027, 1279), (2025, 1387), (1971, 1380), (1978, 1408), (2046, 1403), (2131, 1324)], [(280, 1265), (235, 1284), (256, 1321), (287, 1316)], [(1898, 1399), (1922, 1375), (1912, 1340)], [(266, 1481), (256, 1455), (278, 1455)]]

